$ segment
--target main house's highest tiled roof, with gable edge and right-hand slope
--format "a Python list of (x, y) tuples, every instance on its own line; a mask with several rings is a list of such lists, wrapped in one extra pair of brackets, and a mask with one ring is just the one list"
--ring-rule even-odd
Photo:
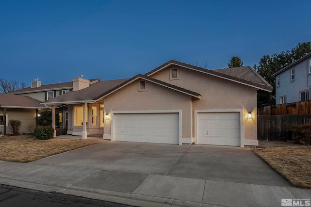
[(271, 92), (273, 90), (273, 87), (266, 80), (264, 80), (255, 70), (253, 70), (250, 66), (238, 67), (238, 68), (226, 68), (226, 69), (220, 69), (220, 70), (207, 70), (202, 67), (171, 60), (155, 68), (154, 70), (146, 73), (145, 75), (150, 76), (156, 73), (157, 71), (172, 64), (186, 67), (188, 69), (200, 71), (200, 72), (203, 72), (209, 75), (217, 76), (219, 78), (224, 78), (226, 80), (240, 82), (242, 84), (250, 85), (250, 86), (265, 90), (265, 91)]

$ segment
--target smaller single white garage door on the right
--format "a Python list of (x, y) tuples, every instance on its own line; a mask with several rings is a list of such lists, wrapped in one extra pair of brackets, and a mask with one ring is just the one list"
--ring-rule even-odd
[(240, 112), (198, 113), (198, 143), (240, 146)]

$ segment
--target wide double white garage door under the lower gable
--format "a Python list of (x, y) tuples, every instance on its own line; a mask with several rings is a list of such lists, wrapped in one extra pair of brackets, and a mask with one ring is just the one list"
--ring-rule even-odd
[(178, 113), (115, 114), (116, 141), (179, 143)]

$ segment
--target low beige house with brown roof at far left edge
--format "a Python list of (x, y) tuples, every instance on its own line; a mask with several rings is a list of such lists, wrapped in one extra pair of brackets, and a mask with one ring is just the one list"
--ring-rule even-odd
[(47, 109), (40, 102), (28, 96), (0, 94), (0, 134), (11, 134), (9, 120), (19, 120), (20, 133), (30, 133), (30, 130), (36, 126), (35, 117), (38, 115), (38, 110)]

